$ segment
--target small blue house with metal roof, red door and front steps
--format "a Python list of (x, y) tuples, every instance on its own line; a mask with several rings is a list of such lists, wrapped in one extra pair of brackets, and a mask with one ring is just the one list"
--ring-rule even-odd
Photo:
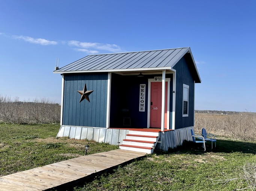
[(57, 137), (146, 153), (191, 140), (201, 78), (189, 47), (88, 55), (54, 73), (62, 76)]

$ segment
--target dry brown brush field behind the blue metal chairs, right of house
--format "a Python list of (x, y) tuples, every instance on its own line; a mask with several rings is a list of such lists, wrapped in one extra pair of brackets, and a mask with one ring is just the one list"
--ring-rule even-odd
[(195, 131), (201, 133), (202, 128), (216, 135), (241, 140), (256, 140), (255, 113), (220, 115), (195, 113)]

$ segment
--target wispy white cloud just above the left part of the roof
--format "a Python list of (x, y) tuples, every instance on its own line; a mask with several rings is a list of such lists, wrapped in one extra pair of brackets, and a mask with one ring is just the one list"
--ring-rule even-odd
[(99, 52), (98, 50), (106, 50), (109, 52), (120, 52), (121, 48), (117, 46), (116, 44), (104, 44), (104, 43), (88, 43), (88, 42), (79, 42), (76, 40), (68, 41), (67, 43), (69, 46), (76, 46), (75, 50), (81, 51), (81, 48), (85, 48), (85, 51), (91, 51), (91, 52)]

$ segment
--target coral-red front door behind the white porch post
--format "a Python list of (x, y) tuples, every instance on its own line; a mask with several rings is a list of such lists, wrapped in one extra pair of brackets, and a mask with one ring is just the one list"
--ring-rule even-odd
[[(165, 82), (165, 128), (167, 128), (167, 85), (168, 82)], [(150, 127), (161, 128), (162, 82), (151, 82), (150, 94)]]

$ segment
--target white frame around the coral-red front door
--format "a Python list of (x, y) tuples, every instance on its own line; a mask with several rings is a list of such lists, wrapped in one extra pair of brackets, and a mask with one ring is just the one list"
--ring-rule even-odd
[[(170, 129), (170, 81), (171, 78), (166, 78), (165, 82), (167, 82), (167, 129)], [(154, 79), (148, 79), (148, 122), (147, 128), (150, 128), (150, 99), (151, 99), (151, 82), (162, 82), (155, 81)]]

